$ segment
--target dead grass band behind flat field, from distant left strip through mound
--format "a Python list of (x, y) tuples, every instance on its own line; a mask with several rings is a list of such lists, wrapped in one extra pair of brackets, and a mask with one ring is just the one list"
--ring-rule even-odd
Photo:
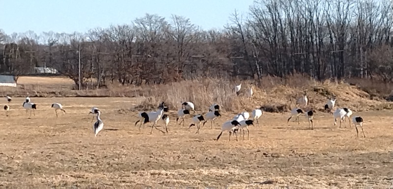
[[(168, 84), (151, 84), (143, 86), (123, 86), (117, 83), (99, 90), (71, 90), (73, 81), (64, 77), (20, 77), (17, 88), (1, 87), (2, 94), (24, 97), (141, 97), (138, 110), (153, 110), (160, 102), (169, 108), (177, 109), (184, 101), (193, 102), (197, 110), (206, 111), (212, 103), (218, 103), (224, 111), (251, 111), (263, 107), (268, 112), (285, 112), (295, 108), (296, 99), (304, 91), (309, 98), (308, 109), (323, 110), (328, 97), (336, 96), (337, 107), (349, 107), (355, 111), (392, 109), (393, 103), (383, 97), (390, 89), (375, 90), (372, 82), (362, 80), (362, 87), (351, 85), (349, 81), (317, 82), (302, 75), (289, 76), (285, 79), (264, 77), (253, 81), (254, 95), (247, 97), (251, 81), (226, 81), (214, 78), (197, 78)], [(242, 83), (240, 95), (233, 92), (235, 84)], [(374, 88), (383, 88), (376, 84)], [(385, 88), (389, 88), (385, 86)], [(370, 92), (371, 91), (371, 92)], [(374, 91), (374, 92), (373, 92)], [(380, 92), (380, 93), (379, 93)], [(379, 95), (376, 95), (379, 94)]]

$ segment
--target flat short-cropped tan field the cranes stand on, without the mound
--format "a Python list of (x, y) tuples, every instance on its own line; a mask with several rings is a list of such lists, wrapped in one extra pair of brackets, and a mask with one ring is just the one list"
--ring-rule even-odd
[[(207, 123), (195, 134), (175, 124), (169, 133), (134, 127), (137, 98), (31, 98), (37, 104), (28, 119), (24, 98), (13, 98), (9, 116), (0, 112), (1, 187), (355, 187), (387, 188), (393, 183), (393, 111), (354, 112), (365, 119), (366, 137), (352, 125), (333, 126), (332, 115), (318, 112), (308, 122), (286, 124), (289, 113), (265, 113), (250, 127), (250, 140), (228, 141), (221, 124)], [(5, 98), (0, 101), (6, 104)], [(67, 113), (56, 118), (51, 104)], [(97, 137), (88, 115), (102, 111), (104, 129)], [(207, 108), (207, 107), (206, 107)]]

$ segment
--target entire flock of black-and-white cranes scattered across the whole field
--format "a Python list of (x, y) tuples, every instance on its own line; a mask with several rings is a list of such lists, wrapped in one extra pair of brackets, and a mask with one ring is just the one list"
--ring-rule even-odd
[[(240, 89), (241, 89), (241, 84), (235, 86), (234, 90), (236, 91), (237, 95), (239, 95)], [(253, 85), (251, 86), (248, 95), (249, 95), (249, 97), (251, 97), (253, 95)], [(10, 103), (12, 101), (11, 97), (6, 96), (6, 98), (7, 98), (8, 103)], [(349, 125), (351, 126), (350, 116), (353, 114), (353, 112), (349, 108), (337, 108), (335, 111), (333, 111), (335, 108), (336, 100), (337, 99), (330, 99), (329, 98), (326, 105), (324, 106), (325, 110), (329, 110), (331, 113), (333, 113), (334, 125), (337, 124), (337, 119), (339, 119), (340, 120), (339, 127), (341, 128), (342, 122), (345, 121), (345, 118), (348, 118)], [(304, 93), (304, 95), (301, 98), (299, 98), (297, 100), (296, 104), (303, 105), (305, 107), (307, 106), (308, 98), (307, 98), (306, 92)], [(33, 112), (33, 114), (35, 115), (34, 109), (37, 109), (37, 106), (36, 106), (36, 104), (31, 102), (29, 97), (26, 97), (25, 101), (23, 102), (23, 108), (26, 109), (26, 113), (28, 113), (28, 111), (30, 111), (30, 115), (28, 117), (28, 118), (30, 118), (31, 112)], [(53, 103), (51, 108), (55, 109), (56, 117), (58, 117), (58, 113), (57, 113), (58, 110), (61, 110), (64, 113), (66, 113), (66, 111), (63, 109), (62, 105), (59, 103)], [(4, 110), (8, 111), (9, 109), (10, 109), (9, 105), (4, 106)], [(192, 103), (192, 102), (182, 103), (181, 108), (177, 111), (176, 123), (178, 123), (178, 121), (181, 120), (178, 124), (180, 125), (183, 123), (183, 126), (184, 126), (184, 117), (189, 115), (190, 111), (193, 111), (194, 113), (197, 112), (195, 110), (194, 103)], [(153, 129), (159, 130), (162, 133), (168, 133), (169, 115), (164, 112), (168, 112), (168, 107), (165, 106), (164, 102), (160, 103), (160, 105), (158, 106), (158, 110), (156, 110), (156, 111), (140, 112), (138, 115), (139, 119), (135, 123), (135, 126), (137, 126), (137, 124), (140, 123), (140, 126), (139, 126), (139, 129), (140, 129), (140, 127), (142, 125), (145, 125), (146, 123), (153, 123), (153, 125), (151, 126), (150, 134), (152, 134)], [(96, 119), (97, 119), (97, 121), (93, 124), (93, 133), (94, 133), (94, 136), (97, 136), (98, 133), (104, 127), (104, 122), (100, 118), (101, 111), (98, 108), (93, 107), (93, 108), (91, 108), (89, 114), (90, 113), (93, 114), (93, 118), (92, 118), (91, 122), (93, 121), (94, 117), (96, 117)], [(308, 110), (308, 111), (303, 111), (303, 109), (301, 109), (301, 108), (294, 108), (290, 112), (290, 117), (287, 119), (287, 123), (289, 123), (289, 120), (293, 116), (296, 116), (295, 122), (297, 121), (298, 124), (300, 124), (299, 116), (304, 114), (309, 122), (309, 129), (313, 129), (314, 128), (313, 117), (314, 117), (315, 113), (316, 113), (316, 111), (313, 109)], [(231, 120), (227, 120), (223, 123), (223, 125), (221, 127), (221, 132), (217, 136), (217, 140), (220, 138), (220, 136), (225, 131), (229, 132), (229, 140), (230, 140), (230, 136), (232, 134), (236, 135), (236, 140), (237, 140), (237, 132), (243, 131), (243, 139), (244, 139), (245, 138), (245, 130), (247, 130), (248, 139), (250, 139), (250, 130), (248, 127), (254, 126), (254, 121), (257, 124), (259, 124), (259, 118), (262, 116), (262, 114), (263, 114), (262, 108), (256, 108), (252, 111), (251, 117), (250, 117), (250, 113), (247, 111), (244, 111), (244, 112), (241, 112), (241, 113), (235, 115)], [(208, 112), (206, 114), (204, 114), (204, 115), (196, 114), (192, 117), (191, 124), (188, 127), (188, 129), (190, 129), (193, 126), (196, 126), (197, 127), (196, 134), (199, 134), (201, 124), (203, 127), (205, 125), (205, 123), (208, 121), (211, 122), (210, 128), (213, 129), (213, 122), (217, 117), (221, 117), (220, 106), (218, 104), (212, 104), (208, 108)], [(159, 128), (157, 128), (157, 122), (160, 120), (165, 124), (164, 125), (165, 131), (162, 131)], [(352, 118), (352, 122), (355, 125), (357, 136), (359, 136), (358, 126), (360, 126), (360, 128), (362, 129), (362, 132), (363, 132), (363, 136), (365, 137), (365, 133), (363, 131), (363, 118), (360, 116), (355, 116)], [(240, 133), (240, 135), (241, 135), (241, 133)]]

